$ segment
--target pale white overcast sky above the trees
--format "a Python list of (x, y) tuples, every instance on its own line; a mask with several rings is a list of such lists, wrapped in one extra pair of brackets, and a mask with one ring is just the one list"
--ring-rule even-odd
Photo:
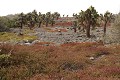
[(99, 13), (110, 11), (120, 12), (120, 0), (2, 0), (0, 2), (0, 16), (27, 13), (36, 9), (39, 12), (59, 12), (61, 15), (72, 15), (80, 10), (94, 6)]

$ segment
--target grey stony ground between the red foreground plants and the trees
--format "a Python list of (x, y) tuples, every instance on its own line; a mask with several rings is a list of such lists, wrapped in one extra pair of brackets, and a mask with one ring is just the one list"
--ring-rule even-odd
[(70, 28), (64, 28), (67, 32), (59, 32), (62, 27), (52, 28), (57, 29), (58, 32), (46, 32), (45, 29), (35, 29), (35, 35), (39, 37), (40, 41), (53, 42), (57, 44), (69, 43), (69, 42), (95, 42), (102, 40), (103, 29), (96, 28), (91, 31), (91, 38), (87, 38), (85, 32), (74, 32)]

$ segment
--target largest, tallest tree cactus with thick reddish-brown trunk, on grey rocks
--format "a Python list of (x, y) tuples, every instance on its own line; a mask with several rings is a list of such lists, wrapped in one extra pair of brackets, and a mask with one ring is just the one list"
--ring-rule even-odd
[(76, 15), (79, 25), (83, 26), (83, 30), (86, 29), (86, 35), (88, 38), (90, 38), (90, 27), (96, 26), (98, 17), (98, 12), (92, 6), (86, 11), (81, 10), (79, 15)]

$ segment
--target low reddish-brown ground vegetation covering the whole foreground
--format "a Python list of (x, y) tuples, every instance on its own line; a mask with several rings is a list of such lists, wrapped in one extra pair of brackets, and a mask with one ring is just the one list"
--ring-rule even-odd
[[(120, 46), (95, 42), (41, 46), (44, 44), (51, 43), (0, 46), (2, 54), (13, 49), (10, 58), (1, 61), (0, 74), (6, 80), (119, 80)], [(101, 54), (104, 56), (90, 59)]]

